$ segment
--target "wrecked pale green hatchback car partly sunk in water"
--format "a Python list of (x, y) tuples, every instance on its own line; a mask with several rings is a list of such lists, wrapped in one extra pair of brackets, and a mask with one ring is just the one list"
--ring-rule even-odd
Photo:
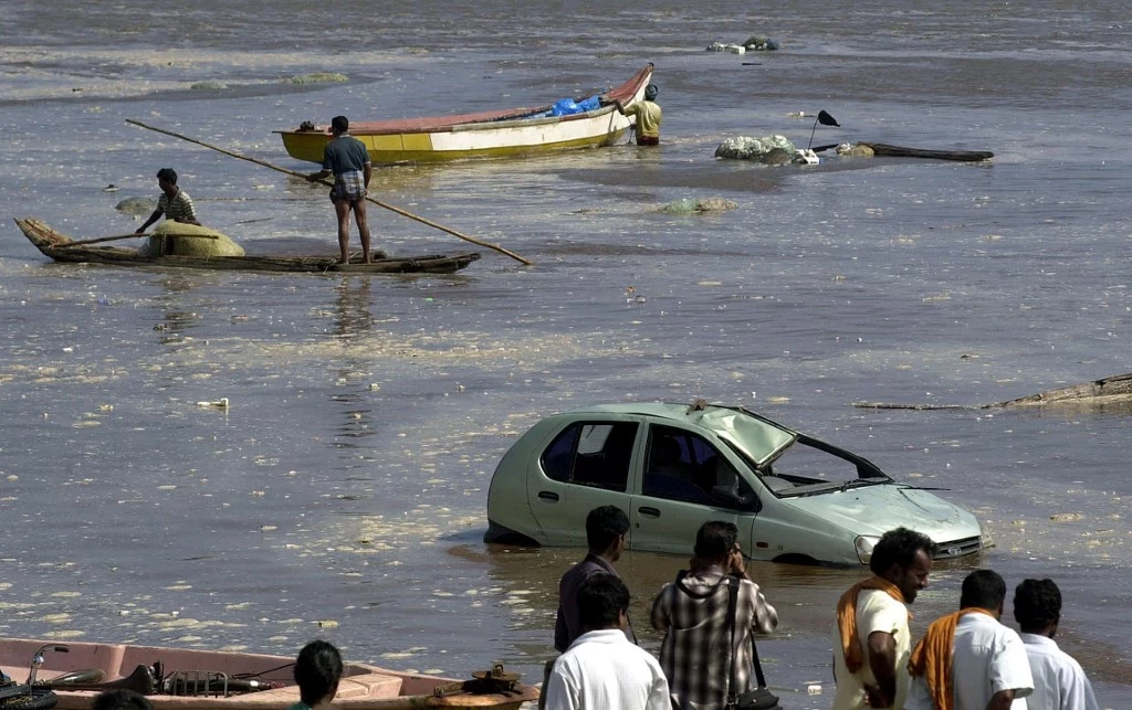
[(585, 546), (585, 517), (612, 504), (629, 549), (688, 554), (709, 520), (739, 527), (755, 560), (867, 564), (886, 530), (936, 543), (936, 559), (978, 553), (972, 513), (898, 483), (867, 459), (743, 407), (600, 405), (535, 424), (491, 477), (488, 543)]

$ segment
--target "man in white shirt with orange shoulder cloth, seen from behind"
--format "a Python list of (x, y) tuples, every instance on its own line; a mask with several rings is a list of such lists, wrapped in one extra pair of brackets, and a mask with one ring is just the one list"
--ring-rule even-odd
[(912, 651), (906, 710), (1026, 710), (1034, 678), (1022, 640), (998, 623), (1005, 599), (997, 572), (967, 575), (960, 609), (932, 622)]

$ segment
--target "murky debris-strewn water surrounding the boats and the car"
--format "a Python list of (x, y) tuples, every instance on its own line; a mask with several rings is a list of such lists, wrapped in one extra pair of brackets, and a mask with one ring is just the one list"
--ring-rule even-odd
[[(1122, 5), (378, 5), (349, 31), (292, 0), (5, 5), (0, 213), (76, 236), (136, 228), (113, 206), (155, 197), (173, 166), (201, 219), (257, 253), (335, 251), (323, 188), (125, 119), (307, 170), (273, 130), (549, 103), (653, 61), (664, 144), (377, 172), (380, 199), (528, 269), (492, 254), (452, 277), (88, 268), (49, 263), (9, 223), (0, 633), (288, 655), (323, 637), (389, 667), (501, 659), (534, 679), (581, 551), (480, 542), (499, 457), (563, 408), (706, 397), (945, 488), (998, 546), (937, 571), (914, 626), (954, 606), (975, 564), (1011, 587), (1052, 577), (1058, 641), (1104, 707), (1126, 704), (1126, 408), (849, 406), (1003, 401), (1129, 370)], [(752, 34), (783, 49), (704, 51)], [(349, 80), (302, 81), (328, 71)], [(996, 157), (712, 157), (734, 136), (805, 144), (813, 120), (790, 114), (822, 109), (842, 128), (815, 144)], [(659, 211), (686, 198), (737, 207)], [(378, 208), (371, 222), (393, 254), (468, 248)], [(684, 563), (619, 563), (646, 648), (648, 605)], [(772, 685), (827, 707), (832, 608), (858, 573), (753, 574), (782, 617), (760, 644)]]

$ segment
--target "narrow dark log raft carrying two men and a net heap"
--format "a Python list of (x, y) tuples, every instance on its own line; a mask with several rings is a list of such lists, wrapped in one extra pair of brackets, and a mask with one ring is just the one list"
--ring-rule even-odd
[(71, 263), (109, 263), (127, 267), (174, 267), (182, 269), (234, 269), (241, 271), (350, 271), (360, 274), (454, 274), (480, 258), (477, 252), (460, 254), (431, 254), (375, 259), (371, 263), (351, 261), (338, 263), (337, 257), (183, 257), (169, 254), (148, 257), (136, 249), (83, 244), (70, 246), (75, 240), (52, 230), (43, 222), (26, 217), (17, 219), (24, 235), (35, 248), (55, 261)]

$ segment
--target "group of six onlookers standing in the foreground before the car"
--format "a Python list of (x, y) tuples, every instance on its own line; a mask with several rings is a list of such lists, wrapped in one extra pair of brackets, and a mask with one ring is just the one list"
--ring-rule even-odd
[[(704, 523), (691, 569), (653, 601), (650, 622), (664, 634), (659, 661), (636, 644), (629, 591), (614, 569), (628, 530), (615, 505), (586, 518), (589, 554), (559, 583), (561, 655), (547, 664), (540, 707), (777, 709), (755, 635), (773, 631), (778, 613), (746, 572), (736, 526)], [(873, 549), (872, 575), (839, 599), (833, 710), (1097, 710), (1080, 664), (1053, 641), (1062, 599), (1052, 580), (1027, 579), (1014, 590), (1019, 634), (1001, 623), (1005, 581), (976, 570), (963, 580), (959, 609), (914, 644), (908, 606), (928, 583), (934, 552), (928, 537), (891, 530)]]

